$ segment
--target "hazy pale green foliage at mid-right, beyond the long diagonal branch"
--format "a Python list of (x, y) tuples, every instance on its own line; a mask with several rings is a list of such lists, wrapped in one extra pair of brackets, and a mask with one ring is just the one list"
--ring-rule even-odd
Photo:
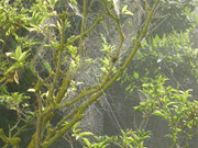
[[(142, 49), (136, 53), (132, 61), (133, 67), (123, 75), (121, 83), (127, 83), (127, 91), (132, 92), (134, 89), (140, 89), (142, 83), (151, 81), (150, 78), (154, 79), (163, 75), (176, 83), (168, 83), (173, 87), (178, 84), (184, 89), (190, 84), (190, 89), (197, 90), (197, 52), (191, 46), (189, 31), (173, 32), (172, 35), (164, 35), (163, 38), (156, 35), (144, 41), (141, 45)], [(131, 72), (132, 75), (128, 75)]]

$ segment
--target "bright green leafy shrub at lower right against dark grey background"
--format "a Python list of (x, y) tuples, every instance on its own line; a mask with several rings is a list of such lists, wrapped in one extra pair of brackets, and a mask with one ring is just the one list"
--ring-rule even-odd
[(167, 79), (162, 77), (156, 83), (144, 83), (142, 93), (146, 95), (146, 101), (141, 102), (135, 110), (143, 113), (144, 118), (152, 115), (161, 116), (168, 122), (172, 134), (165, 135), (173, 140), (172, 147), (183, 144), (188, 147), (188, 140), (197, 135), (198, 127), (198, 102), (190, 99), (190, 90), (180, 91), (172, 87), (164, 87)]

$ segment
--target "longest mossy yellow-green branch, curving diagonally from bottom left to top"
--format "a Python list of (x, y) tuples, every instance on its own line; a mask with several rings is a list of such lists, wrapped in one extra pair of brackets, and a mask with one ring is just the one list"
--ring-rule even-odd
[[(154, 12), (154, 10), (156, 9), (156, 5), (158, 4), (157, 0), (155, 2), (155, 4), (153, 5), (151, 12), (148, 13), (147, 18), (146, 18), (146, 23), (141, 32), (140, 37), (136, 39), (135, 45), (133, 47), (133, 50), (131, 52), (131, 54), (129, 55), (129, 57), (127, 58), (125, 62), (122, 65), (122, 67), (120, 69), (118, 69), (118, 71), (114, 73), (114, 76), (111, 79), (106, 79), (106, 81), (102, 81), (102, 87), (98, 86), (100, 88), (97, 88), (96, 90), (89, 90), (89, 92), (84, 92), (80, 93), (75, 101), (78, 101), (81, 96), (86, 95), (86, 94), (92, 94), (87, 101), (82, 102), (81, 105), (78, 106), (77, 113), (74, 116), (74, 118), (67, 124), (65, 125), (62, 129), (56, 130), (56, 134), (48, 140), (48, 141), (44, 141), (42, 147), (43, 148), (47, 148), (48, 146), (51, 146), (54, 141), (56, 141), (59, 137), (62, 137), (68, 129), (70, 129), (70, 127), (78, 122), (79, 119), (81, 119), (84, 117), (82, 113), (92, 103), (95, 102), (101, 94), (103, 94), (103, 92), (123, 73), (123, 71), (125, 70), (127, 66), (129, 65), (129, 62), (131, 61), (131, 59), (134, 57), (136, 50), (139, 49), (139, 47), (141, 46), (141, 41), (146, 36), (146, 31), (151, 21), (151, 16), (152, 13)], [(99, 89), (99, 90), (98, 90)], [(95, 92), (96, 91), (96, 92)], [(74, 102), (75, 102), (74, 101)], [(73, 104), (74, 102), (70, 103), (65, 103), (64, 105), (69, 105)]]

